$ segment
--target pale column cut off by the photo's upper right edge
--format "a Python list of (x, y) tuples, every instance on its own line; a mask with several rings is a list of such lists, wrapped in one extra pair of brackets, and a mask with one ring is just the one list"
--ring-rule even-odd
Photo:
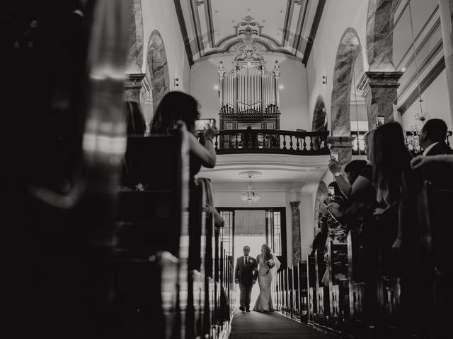
[(448, 100), (453, 122), (453, 0), (439, 0), (439, 9), (445, 69), (447, 71)]

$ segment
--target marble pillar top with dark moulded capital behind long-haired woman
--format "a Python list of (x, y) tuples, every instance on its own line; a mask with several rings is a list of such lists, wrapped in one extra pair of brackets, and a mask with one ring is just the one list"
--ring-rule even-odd
[(368, 129), (377, 126), (377, 116), (384, 116), (384, 122), (394, 121), (394, 104), (398, 97), (396, 89), (403, 72), (365, 72), (367, 84), (362, 94), (368, 114)]

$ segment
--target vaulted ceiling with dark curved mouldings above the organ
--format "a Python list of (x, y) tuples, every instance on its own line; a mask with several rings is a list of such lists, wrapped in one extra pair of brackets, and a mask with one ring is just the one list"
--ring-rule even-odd
[(326, 0), (174, 0), (190, 64), (216, 53), (282, 52), (304, 60)]

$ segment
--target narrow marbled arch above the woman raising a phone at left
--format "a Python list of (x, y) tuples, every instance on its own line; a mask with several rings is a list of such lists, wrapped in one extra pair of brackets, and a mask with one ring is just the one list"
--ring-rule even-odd
[(165, 46), (158, 30), (153, 30), (149, 37), (145, 77), (151, 88), (153, 110), (156, 110), (162, 97), (170, 90), (170, 74), (168, 73)]

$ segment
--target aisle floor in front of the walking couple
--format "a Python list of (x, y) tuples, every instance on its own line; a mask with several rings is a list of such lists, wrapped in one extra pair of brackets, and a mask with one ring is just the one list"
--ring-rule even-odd
[(229, 339), (333, 339), (327, 335), (297, 323), (277, 312), (263, 314), (251, 311), (234, 314)]

